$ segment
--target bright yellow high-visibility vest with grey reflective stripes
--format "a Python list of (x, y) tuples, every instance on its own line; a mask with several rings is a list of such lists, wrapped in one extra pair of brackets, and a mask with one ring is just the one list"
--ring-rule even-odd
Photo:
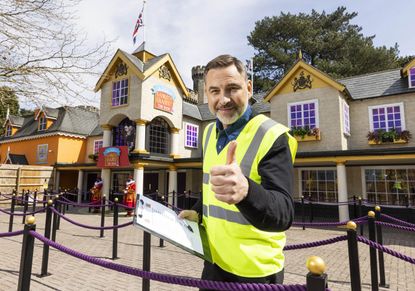
[[(258, 164), (282, 134), (294, 162), (297, 141), (288, 128), (266, 117), (252, 118), (236, 141), (236, 160), (243, 174), (260, 184)], [(209, 183), (212, 166), (225, 165), (228, 145), (218, 154), (216, 125), (209, 124), (203, 134), (203, 218), (212, 260), (223, 270), (242, 277), (265, 277), (284, 268), (284, 232), (262, 231), (251, 225), (235, 205), (215, 198)]]

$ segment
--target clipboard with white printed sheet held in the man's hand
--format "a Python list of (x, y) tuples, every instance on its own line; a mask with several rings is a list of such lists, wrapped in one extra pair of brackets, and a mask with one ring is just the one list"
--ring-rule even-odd
[(204, 260), (212, 261), (206, 231), (196, 222), (143, 195), (137, 196), (134, 225)]

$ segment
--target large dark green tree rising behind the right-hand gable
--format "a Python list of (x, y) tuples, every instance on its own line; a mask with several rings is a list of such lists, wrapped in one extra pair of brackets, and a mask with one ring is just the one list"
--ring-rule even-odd
[(256, 50), (255, 91), (275, 85), (295, 63), (301, 50), (309, 64), (334, 78), (364, 74), (399, 66), (398, 45), (375, 47), (373, 36), (364, 36), (362, 28), (351, 24), (356, 12), (345, 7), (333, 13), (265, 17), (257, 21), (248, 36)]

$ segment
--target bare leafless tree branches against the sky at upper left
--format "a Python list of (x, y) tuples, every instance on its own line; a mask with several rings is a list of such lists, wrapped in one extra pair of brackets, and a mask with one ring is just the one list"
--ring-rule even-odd
[(0, 0), (0, 84), (40, 106), (84, 100), (109, 56), (109, 42), (90, 47), (76, 27), (81, 0)]

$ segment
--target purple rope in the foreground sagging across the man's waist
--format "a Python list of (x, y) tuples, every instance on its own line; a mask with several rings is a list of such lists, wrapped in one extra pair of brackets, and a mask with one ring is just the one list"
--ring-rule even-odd
[(184, 277), (184, 276), (173, 276), (169, 274), (160, 274), (143, 271), (138, 268), (128, 267), (120, 264), (116, 264), (110, 261), (105, 261), (98, 259), (89, 255), (82, 254), (73, 249), (62, 246), (54, 241), (47, 239), (41, 234), (31, 230), (29, 231), (30, 235), (42, 241), (43, 243), (61, 251), (65, 254), (73, 256), (75, 258), (81, 259), (88, 263), (98, 265), (110, 270), (117, 272), (142, 277), (149, 280), (155, 280), (164, 283), (183, 285), (196, 288), (205, 288), (205, 289), (216, 289), (216, 290), (281, 290), (281, 291), (306, 291), (307, 288), (305, 285), (277, 285), (277, 284), (254, 284), (254, 283), (233, 283), (233, 282), (216, 282), (216, 281), (207, 281), (196, 278)]

